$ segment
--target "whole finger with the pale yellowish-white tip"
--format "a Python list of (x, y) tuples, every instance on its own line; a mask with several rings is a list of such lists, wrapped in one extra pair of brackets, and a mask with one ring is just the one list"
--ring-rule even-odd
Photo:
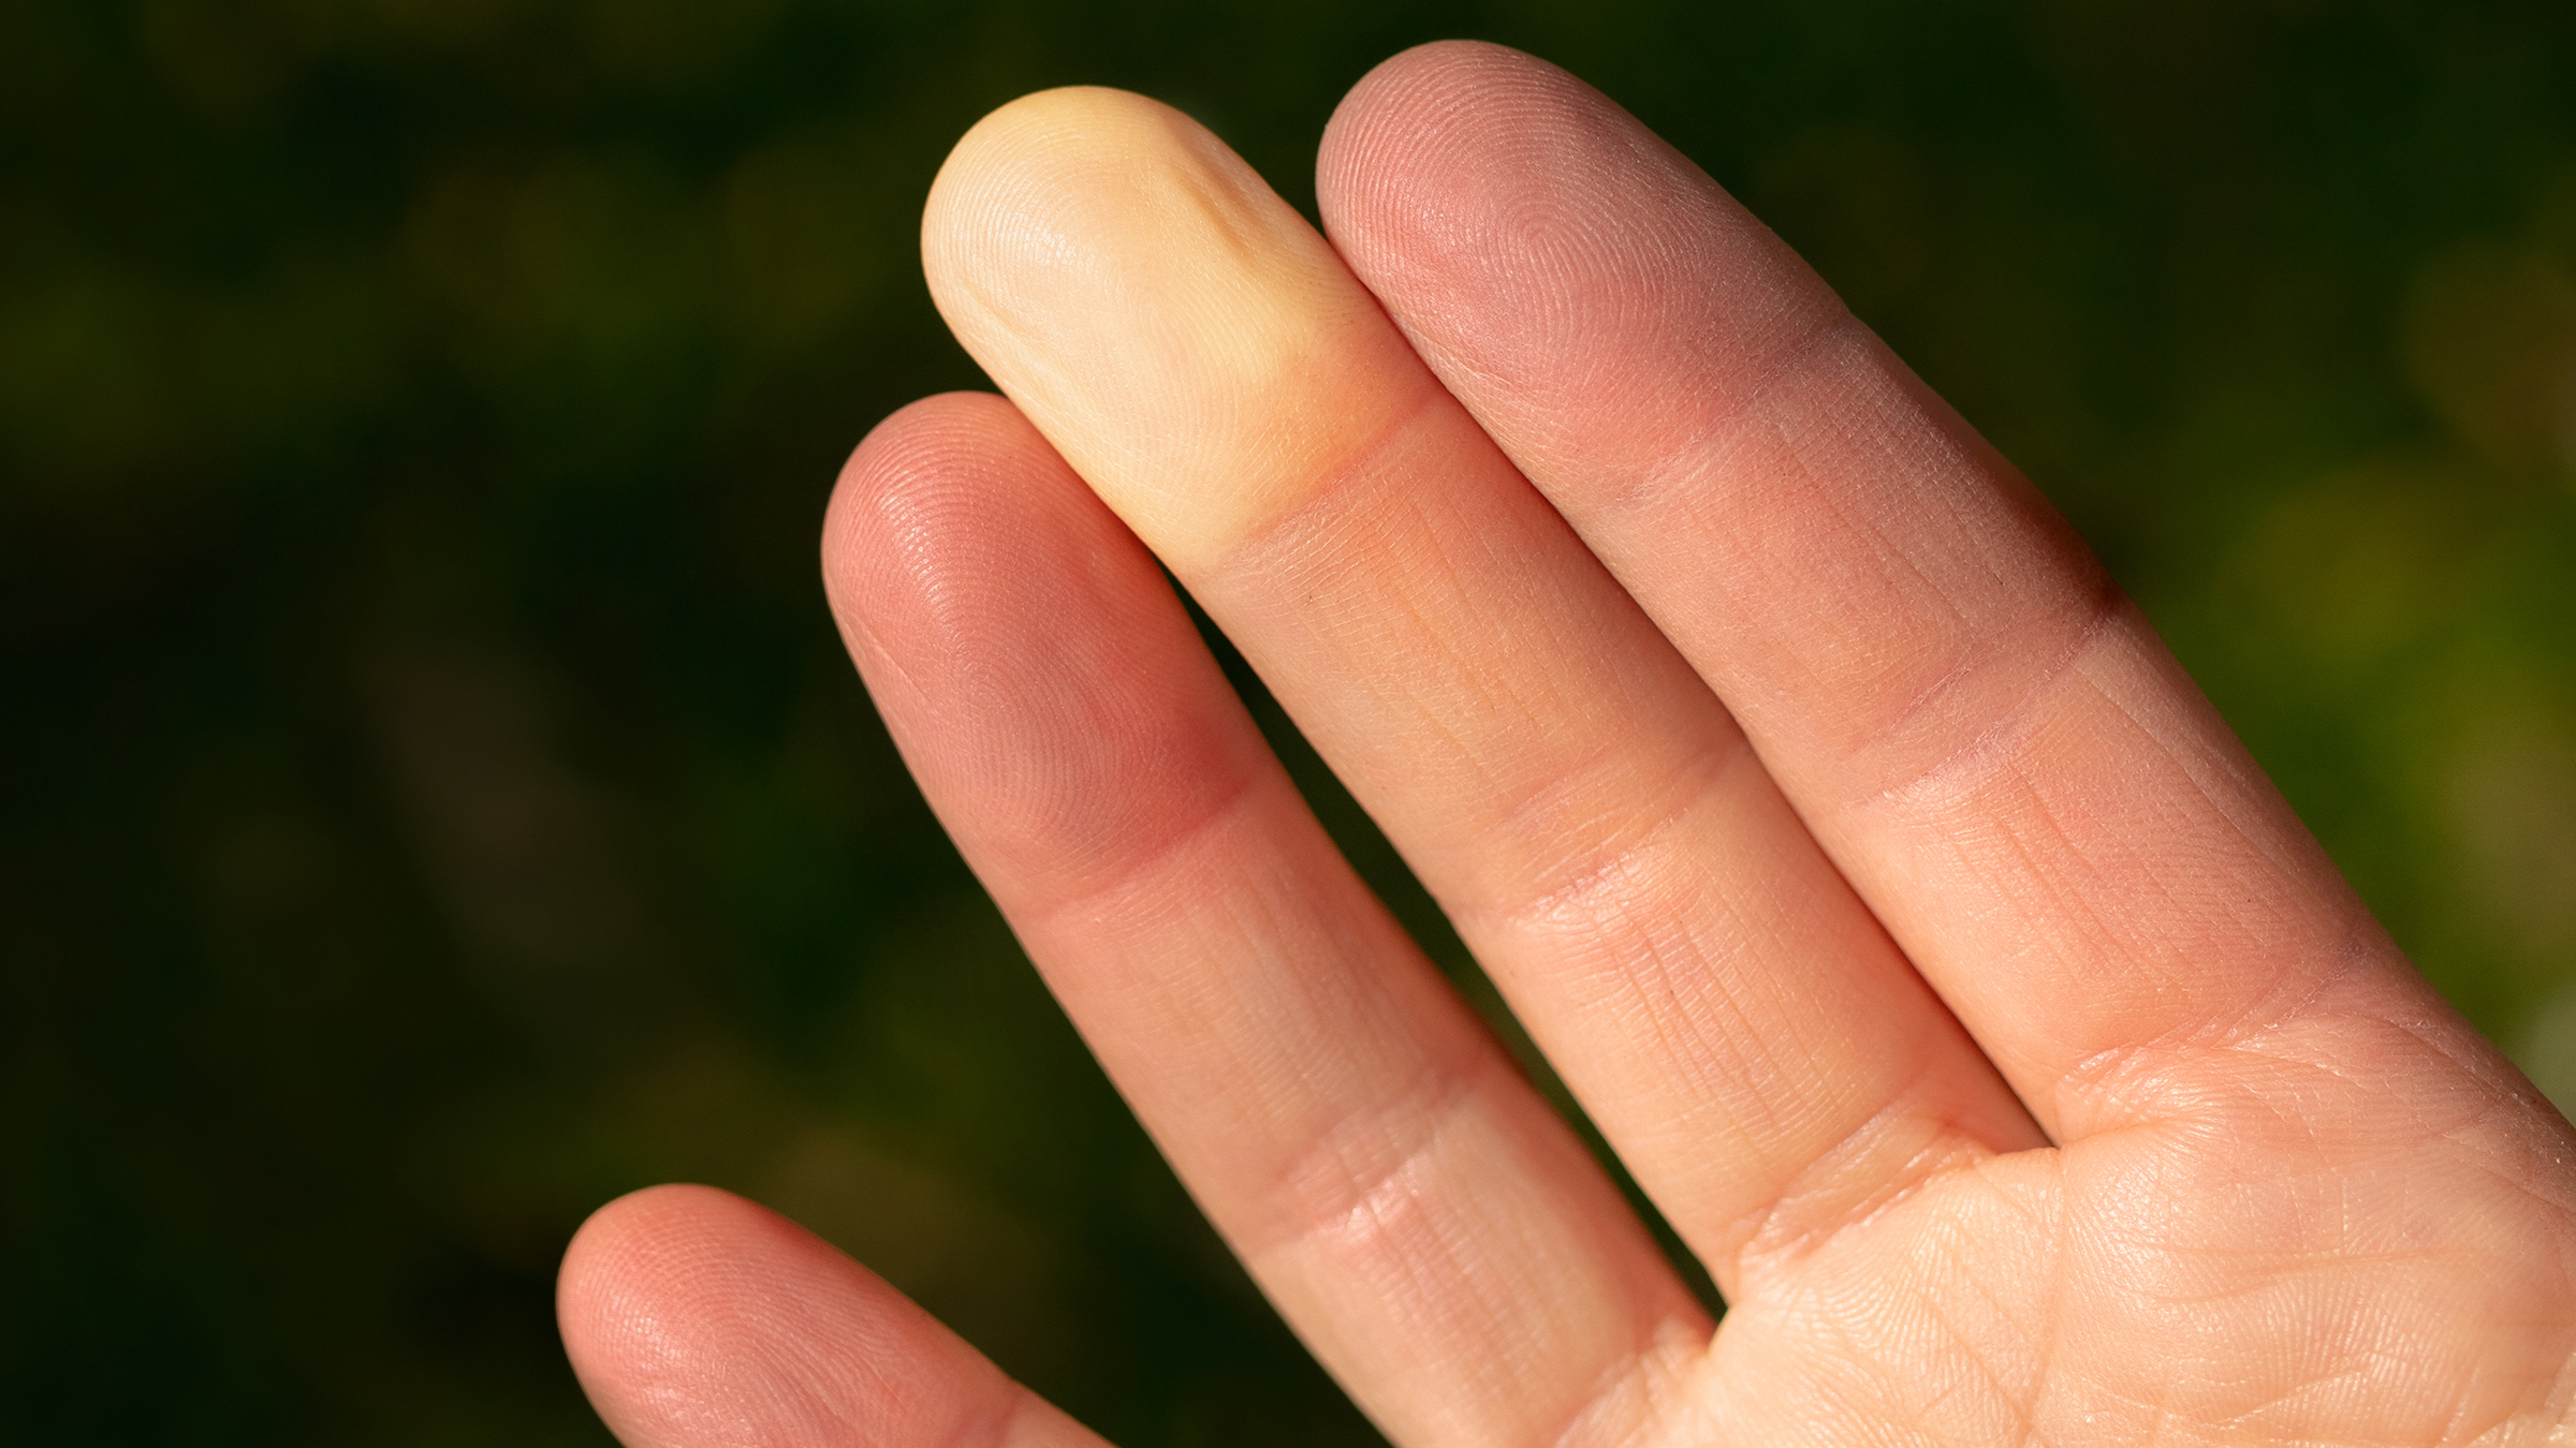
[(1007, 106), (925, 258), (1721, 1288), (1747, 1242), (2040, 1141), (1708, 688), (1213, 137), (1108, 90)]

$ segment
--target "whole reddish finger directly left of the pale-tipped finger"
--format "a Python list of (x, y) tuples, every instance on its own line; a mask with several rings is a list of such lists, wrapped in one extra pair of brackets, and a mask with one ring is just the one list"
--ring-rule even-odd
[(832, 500), (850, 652), (958, 848), (1252, 1275), (1412, 1448), (1623, 1425), (1708, 1322), (1334, 853), (1154, 559), (997, 397)]

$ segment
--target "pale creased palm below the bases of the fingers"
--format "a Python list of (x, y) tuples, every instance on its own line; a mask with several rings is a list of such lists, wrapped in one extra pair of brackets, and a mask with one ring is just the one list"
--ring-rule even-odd
[(1754, 1286), (1667, 1440), (2561, 1443), (2563, 1226), (2491, 1172), (2223, 1134), (1999, 1159)]

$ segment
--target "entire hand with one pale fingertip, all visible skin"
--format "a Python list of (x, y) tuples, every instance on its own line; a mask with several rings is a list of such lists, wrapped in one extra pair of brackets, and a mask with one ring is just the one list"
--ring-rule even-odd
[[(1329, 240), (1136, 95), (981, 121), (922, 250), (1005, 399), (889, 417), (824, 580), (1030, 958), (1394, 1443), (2576, 1443), (2576, 1134), (2004, 459), (1530, 57), (1386, 62), (1319, 196)], [(708, 1188), (603, 1208), (562, 1322), (636, 1448), (1092, 1443)]]

